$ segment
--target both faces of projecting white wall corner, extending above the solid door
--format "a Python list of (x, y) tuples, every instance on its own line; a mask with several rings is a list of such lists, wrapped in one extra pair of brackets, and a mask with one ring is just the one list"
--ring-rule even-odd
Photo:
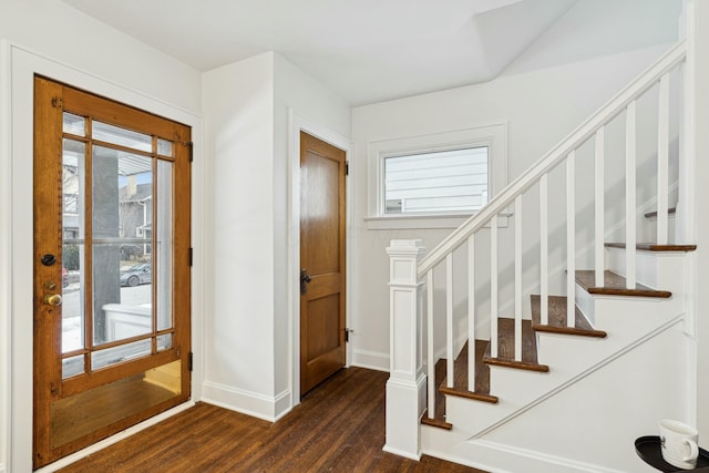
[(297, 268), (289, 258), (299, 248), (288, 109), (349, 135), (347, 103), (278, 54), (204, 74), (214, 174), (214, 308), (205, 330), (204, 395), (269, 420), (291, 408), (291, 363), (299, 362), (291, 356)]

